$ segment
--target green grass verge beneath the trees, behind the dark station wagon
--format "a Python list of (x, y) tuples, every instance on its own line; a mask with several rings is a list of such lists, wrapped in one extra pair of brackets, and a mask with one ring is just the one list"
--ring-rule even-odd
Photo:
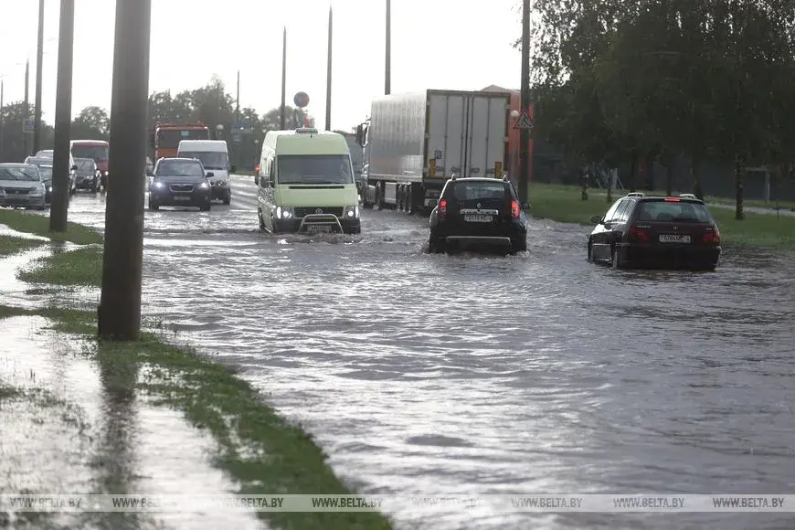
[[(613, 200), (625, 194), (614, 193)], [(580, 188), (573, 185), (534, 183), (530, 185), (530, 197), (533, 217), (586, 226), (593, 226), (590, 217), (602, 216), (610, 207), (604, 191), (588, 189), (588, 200), (584, 201)], [(746, 218), (737, 221), (734, 210), (710, 208), (710, 212), (726, 245), (795, 249), (795, 217), (746, 212)]]

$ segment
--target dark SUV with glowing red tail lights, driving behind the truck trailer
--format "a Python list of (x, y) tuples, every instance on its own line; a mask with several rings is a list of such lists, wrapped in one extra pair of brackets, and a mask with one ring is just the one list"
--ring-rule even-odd
[(430, 212), (430, 252), (469, 244), (527, 249), (526, 217), (514, 185), (505, 177), (456, 178), (445, 183)]

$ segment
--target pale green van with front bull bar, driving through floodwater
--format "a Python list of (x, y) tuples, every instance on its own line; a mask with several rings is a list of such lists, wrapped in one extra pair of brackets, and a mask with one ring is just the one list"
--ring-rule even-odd
[(262, 230), (274, 234), (362, 230), (351, 153), (338, 132), (269, 131), (262, 141), (254, 182)]

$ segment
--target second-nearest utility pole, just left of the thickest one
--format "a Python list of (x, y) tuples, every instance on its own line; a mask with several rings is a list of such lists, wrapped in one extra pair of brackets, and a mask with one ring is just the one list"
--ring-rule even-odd
[(60, 0), (58, 84), (55, 95), (55, 142), (52, 159), (52, 204), (49, 229), (66, 232), (69, 211), (69, 136), (72, 125), (72, 60), (75, 44), (75, 0)]

